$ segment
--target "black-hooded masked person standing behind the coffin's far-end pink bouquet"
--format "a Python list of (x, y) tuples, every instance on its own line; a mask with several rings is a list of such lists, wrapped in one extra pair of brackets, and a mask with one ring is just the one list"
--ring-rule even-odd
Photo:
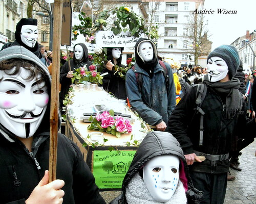
[(69, 88), (72, 84), (71, 78), (74, 77), (73, 71), (84, 65), (86, 65), (88, 70), (89, 66), (92, 65), (92, 62), (88, 60), (88, 49), (84, 43), (77, 43), (74, 46), (74, 57), (70, 60), (71, 70), (69, 68), (68, 61), (60, 68), (59, 82), (61, 84), (61, 89), (59, 94), (59, 108), (61, 109), (61, 111), (65, 95), (69, 92)]

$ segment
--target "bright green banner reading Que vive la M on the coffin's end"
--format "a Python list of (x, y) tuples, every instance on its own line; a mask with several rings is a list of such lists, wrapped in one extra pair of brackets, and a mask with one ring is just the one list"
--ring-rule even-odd
[(100, 189), (120, 189), (136, 150), (93, 151), (93, 175)]

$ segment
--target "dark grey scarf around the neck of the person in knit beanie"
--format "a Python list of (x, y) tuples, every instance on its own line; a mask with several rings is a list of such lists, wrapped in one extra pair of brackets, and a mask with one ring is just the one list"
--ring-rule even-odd
[(205, 75), (204, 84), (208, 87), (214, 89), (217, 93), (226, 93), (226, 110), (225, 118), (232, 119), (238, 114), (241, 113), (242, 103), (241, 97), (242, 94), (239, 92), (240, 81), (236, 78), (232, 78), (227, 82), (214, 82), (211, 83), (208, 81), (208, 75)]

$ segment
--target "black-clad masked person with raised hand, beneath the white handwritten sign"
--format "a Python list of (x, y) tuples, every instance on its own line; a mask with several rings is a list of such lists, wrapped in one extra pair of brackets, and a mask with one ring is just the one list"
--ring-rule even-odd
[(106, 55), (109, 61), (106, 63), (102, 73), (108, 72), (108, 75), (104, 75), (102, 86), (104, 90), (113, 93), (115, 97), (126, 100), (125, 80), (118, 73), (115, 73), (116, 71), (113, 68), (115, 65), (125, 67), (121, 64), (122, 51), (123, 47), (107, 48)]

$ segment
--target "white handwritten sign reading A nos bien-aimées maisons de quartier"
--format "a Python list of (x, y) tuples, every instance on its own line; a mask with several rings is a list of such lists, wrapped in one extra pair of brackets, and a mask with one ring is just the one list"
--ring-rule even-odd
[(130, 32), (121, 32), (115, 35), (112, 31), (98, 31), (96, 43), (97, 46), (101, 47), (134, 47), (140, 37), (144, 37), (144, 34), (140, 34), (136, 38), (131, 36)]

